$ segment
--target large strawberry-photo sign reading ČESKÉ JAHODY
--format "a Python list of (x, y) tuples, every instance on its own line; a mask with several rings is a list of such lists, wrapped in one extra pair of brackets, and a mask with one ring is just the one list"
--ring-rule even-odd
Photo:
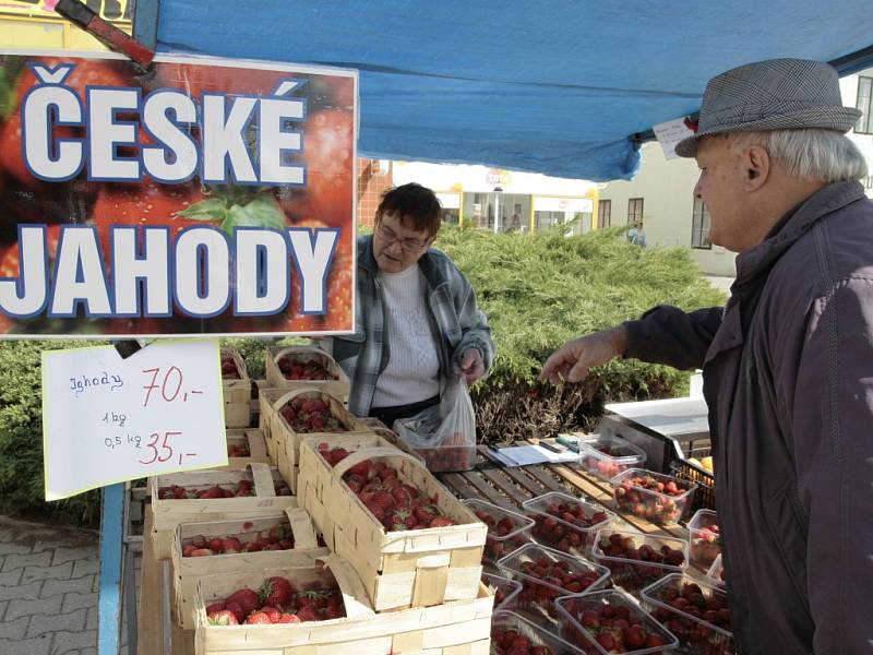
[(0, 333), (354, 330), (354, 71), (0, 64)]

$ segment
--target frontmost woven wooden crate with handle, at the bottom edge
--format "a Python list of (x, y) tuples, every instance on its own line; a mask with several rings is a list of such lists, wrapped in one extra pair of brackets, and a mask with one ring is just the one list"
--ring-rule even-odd
[(480, 585), (477, 596), (436, 607), (375, 614), (360, 580), (343, 558), (322, 561), (336, 580), (346, 617), (330, 621), (273, 626), (208, 626), (206, 606), (243, 586), (272, 575), (306, 584), (318, 580), (314, 569), (266, 569), (251, 573), (201, 577), (196, 592), (198, 655), (488, 655), (493, 595)]

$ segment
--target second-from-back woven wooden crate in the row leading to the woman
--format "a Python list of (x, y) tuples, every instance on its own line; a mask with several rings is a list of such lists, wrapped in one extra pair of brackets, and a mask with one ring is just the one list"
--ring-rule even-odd
[[(301, 395), (318, 395), (321, 400), (326, 401), (331, 405), (331, 414), (338, 418), (340, 422), (348, 428), (345, 432), (296, 432), (287, 420), (282, 416), (279, 410), (294, 398)], [(327, 437), (335, 437), (337, 434), (371, 434), (367, 425), (348, 412), (343, 404), (328, 393), (319, 391), (311, 388), (299, 388), (286, 391), (278, 397), (274, 392), (266, 392), (261, 395), (262, 412), (268, 412), (270, 416), (266, 419), (270, 425), (270, 440), (268, 451), (273, 461), (278, 466), (282, 475), (288, 480), (291, 486), (291, 491), (297, 491), (297, 476), (299, 473), (299, 458), (300, 458), (300, 442), (304, 439), (321, 439)], [(272, 401), (272, 402), (271, 402)], [(264, 405), (267, 405), (266, 407)]]

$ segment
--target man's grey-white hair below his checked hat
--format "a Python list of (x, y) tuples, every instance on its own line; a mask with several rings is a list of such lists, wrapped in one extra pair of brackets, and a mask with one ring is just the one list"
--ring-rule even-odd
[(732, 145), (760, 145), (785, 164), (788, 175), (809, 181), (846, 182), (868, 176), (864, 155), (835, 130), (769, 130), (731, 134)]

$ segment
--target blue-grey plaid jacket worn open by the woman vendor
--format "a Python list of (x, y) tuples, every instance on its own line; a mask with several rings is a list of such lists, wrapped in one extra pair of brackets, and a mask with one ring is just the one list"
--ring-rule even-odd
[[(494, 359), (494, 342), (488, 320), (476, 305), (476, 294), (467, 277), (443, 252), (433, 248), (418, 260), (428, 283), (427, 305), (431, 327), (438, 335), (442, 386), (457, 374), (461, 356), (476, 348), (482, 356), (486, 371)], [(367, 416), (373, 402), (376, 380), (391, 357), (382, 301), (379, 265), (373, 258), (372, 237), (358, 238), (358, 288), (355, 334), (335, 336), (333, 355), (351, 381), (348, 408), (357, 416)]]

